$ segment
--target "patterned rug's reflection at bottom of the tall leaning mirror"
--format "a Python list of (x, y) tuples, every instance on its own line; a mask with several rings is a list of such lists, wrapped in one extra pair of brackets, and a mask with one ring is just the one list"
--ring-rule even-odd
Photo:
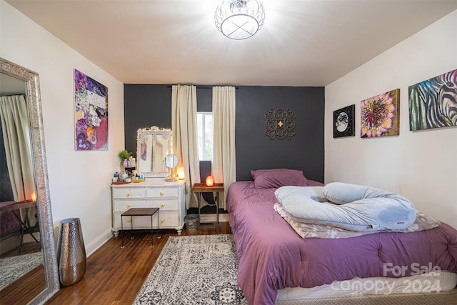
[(0, 290), (36, 266), (39, 266), (39, 264), (43, 264), (43, 254), (41, 251), (0, 259)]

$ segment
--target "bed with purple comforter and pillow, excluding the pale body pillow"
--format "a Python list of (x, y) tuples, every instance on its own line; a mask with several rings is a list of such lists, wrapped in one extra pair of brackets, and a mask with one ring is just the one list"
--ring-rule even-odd
[(366, 304), (367, 298), (373, 304), (381, 298), (382, 304), (386, 297), (399, 304), (411, 304), (415, 297), (456, 304), (456, 229), (441, 222), (409, 233), (303, 238), (273, 208), (275, 191), (283, 185), (323, 184), (306, 178), (297, 183), (290, 172), (271, 176), (264, 171), (267, 178), (261, 174), (254, 172), (254, 181), (231, 184), (227, 195), (238, 286), (248, 304)]

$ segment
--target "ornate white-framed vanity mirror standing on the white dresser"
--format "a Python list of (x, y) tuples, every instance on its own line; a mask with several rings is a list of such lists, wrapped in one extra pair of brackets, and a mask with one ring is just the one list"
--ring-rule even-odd
[(166, 177), (165, 156), (171, 152), (171, 129), (157, 126), (138, 130), (136, 171), (144, 177)]

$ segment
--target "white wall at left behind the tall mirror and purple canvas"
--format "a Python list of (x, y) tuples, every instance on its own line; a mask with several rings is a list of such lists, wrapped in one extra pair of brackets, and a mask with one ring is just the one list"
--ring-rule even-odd
[[(62, 219), (81, 219), (91, 254), (111, 237), (110, 184), (124, 149), (124, 85), (4, 0), (0, 9), (0, 56), (39, 73), (54, 231)], [(107, 151), (75, 151), (73, 69), (108, 87)]]

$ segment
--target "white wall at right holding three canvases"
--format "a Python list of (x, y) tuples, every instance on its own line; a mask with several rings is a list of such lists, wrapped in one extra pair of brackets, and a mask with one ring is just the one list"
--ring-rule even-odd
[[(457, 227), (457, 127), (409, 131), (408, 86), (457, 69), (457, 11), (326, 86), (325, 181), (395, 191)], [(400, 135), (360, 137), (360, 102), (400, 89)], [(333, 111), (356, 104), (356, 136), (333, 139)]]

